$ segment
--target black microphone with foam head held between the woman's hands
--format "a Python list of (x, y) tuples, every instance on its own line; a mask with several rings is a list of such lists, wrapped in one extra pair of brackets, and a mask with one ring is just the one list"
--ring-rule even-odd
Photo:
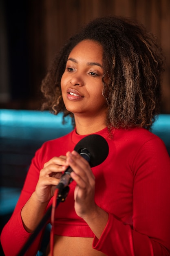
[[(86, 159), (91, 167), (102, 164), (108, 156), (109, 151), (106, 139), (97, 134), (88, 135), (81, 139), (75, 146), (74, 150)], [(68, 166), (60, 178), (59, 184), (56, 186), (57, 189), (61, 191), (73, 181), (70, 176), (72, 171), (71, 167)]]

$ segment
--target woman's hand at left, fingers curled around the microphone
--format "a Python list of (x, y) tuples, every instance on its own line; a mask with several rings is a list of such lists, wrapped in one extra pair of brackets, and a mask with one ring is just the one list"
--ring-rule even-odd
[(53, 157), (44, 164), (40, 171), (39, 180), (35, 188), (35, 196), (39, 202), (48, 202), (54, 194), (62, 172), (66, 170), (66, 156)]

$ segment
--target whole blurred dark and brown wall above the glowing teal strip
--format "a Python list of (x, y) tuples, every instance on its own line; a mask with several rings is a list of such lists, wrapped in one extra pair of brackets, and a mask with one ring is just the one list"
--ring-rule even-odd
[(166, 56), (162, 113), (170, 113), (170, 0), (0, 0), (0, 108), (40, 109), (40, 84), (66, 39), (96, 17), (139, 20)]

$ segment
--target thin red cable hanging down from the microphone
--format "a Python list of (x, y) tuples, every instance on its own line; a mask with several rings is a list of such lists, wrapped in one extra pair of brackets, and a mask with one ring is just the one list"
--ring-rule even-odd
[(50, 233), (50, 256), (53, 256), (53, 249), (54, 249), (54, 216), (55, 216), (55, 208), (57, 204), (57, 195), (58, 195), (58, 189), (55, 189), (54, 196), (53, 196), (53, 202), (52, 202), (52, 209), (51, 209), (51, 233)]

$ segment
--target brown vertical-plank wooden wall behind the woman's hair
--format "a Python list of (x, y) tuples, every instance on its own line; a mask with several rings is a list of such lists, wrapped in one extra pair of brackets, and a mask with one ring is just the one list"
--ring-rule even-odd
[[(31, 3), (34, 6), (33, 0)], [(93, 18), (117, 15), (143, 23), (159, 38), (166, 55), (162, 112), (170, 113), (170, 0), (41, 0), (40, 5), (42, 20), (39, 22), (43, 29), (37, 29), (32, 36), (34, 51), (43, 53), (44, 70), (64, 41)], [(43, 38), (43, 45), (37, 37)]]

